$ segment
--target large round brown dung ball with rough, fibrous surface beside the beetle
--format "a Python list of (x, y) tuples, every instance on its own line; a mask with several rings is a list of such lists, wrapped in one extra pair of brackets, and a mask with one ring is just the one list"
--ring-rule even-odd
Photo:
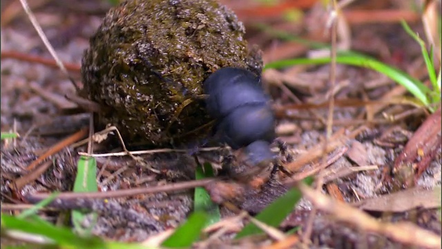
[[(182, 144), (206, 137), (202, 82), (224, 66), (260, 74), (236, 15), (211, 0), (130, 0), (108, 12), (81, 66), (101, 126), (129, 144)], [(192, 97), (193, 96), (193, 97)]]

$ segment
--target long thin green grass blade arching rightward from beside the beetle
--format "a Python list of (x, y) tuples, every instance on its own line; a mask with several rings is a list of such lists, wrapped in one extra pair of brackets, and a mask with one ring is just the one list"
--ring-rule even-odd
[[(294, 66), (298, 64), (328, 64), (332, 61), (330, 57), (322, 58), (298, 58), (298, 59), (285, 59), (278, 62), (271, 62), (265, 66), (265, 68), (284, 68), (287, 66)], [(339, 64), (346, 64), (350, 66), (361, 66), (364, 68), (369, 68), (379, 73), (383, 73), (390, 77), (392, 80), (404, 86), (410, 93), (412, 93), (417, 99), (419, 99), (425, 106), (430, 104), (428, 96), (430, 96), (430, 89), (427, 88), (422, 82), (414, 79), (407, 73), (398, 70), (387, 64), (383, 64), (376, 59), (372, 59), (365, 55), (360, 55), (356, 53), (338, 53), (336, 57), (336, 62)]]

